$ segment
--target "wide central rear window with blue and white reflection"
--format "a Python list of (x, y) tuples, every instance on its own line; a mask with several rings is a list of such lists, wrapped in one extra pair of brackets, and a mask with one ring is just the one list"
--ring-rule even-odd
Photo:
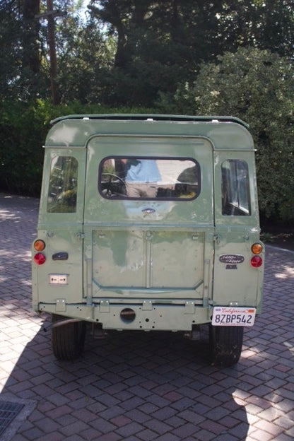
[(194, 199), (199, 182), (199, 164), (192, 159), (105, 158), (98, 188), (107, 199)]

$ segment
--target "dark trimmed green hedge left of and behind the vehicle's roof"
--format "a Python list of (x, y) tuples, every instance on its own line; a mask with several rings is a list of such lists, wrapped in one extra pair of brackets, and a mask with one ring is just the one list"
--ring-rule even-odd
[(54, 106), (43, 100), (0, 103), (0, 189), (39, 196), (43, 149), (50, 121), (66, 114), (141, 112), (73, 102)]

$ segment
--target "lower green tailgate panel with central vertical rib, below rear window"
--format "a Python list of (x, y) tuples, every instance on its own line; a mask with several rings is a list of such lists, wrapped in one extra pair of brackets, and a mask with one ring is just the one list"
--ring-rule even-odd
[[(204, 282), (204, 233), (93, 230), (93, 283), (119, 290), (199, 295)], [(201, 288), (201, 290), (199, 290)], [(148, 295), (150, 292), (148, 293)]]

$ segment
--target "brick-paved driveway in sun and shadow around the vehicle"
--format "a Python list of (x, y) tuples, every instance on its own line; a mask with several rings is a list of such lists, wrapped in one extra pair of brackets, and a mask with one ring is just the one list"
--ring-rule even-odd
[(263, 314), (235, 367), (209, 365), (205, 333), (89, 335), (60, 362), (30, 305), (37, 206), (0, 194), (0, 404), (27, 408), (1, 440), (293, 440), (293, 252), (267, 250)]

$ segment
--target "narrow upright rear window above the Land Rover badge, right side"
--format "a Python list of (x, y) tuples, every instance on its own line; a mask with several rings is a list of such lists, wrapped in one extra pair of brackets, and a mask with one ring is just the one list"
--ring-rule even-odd
[(248, 165), (243, 160), (225, 160), (222, 172), (222, 214), (225, 216), (249, 216)]

